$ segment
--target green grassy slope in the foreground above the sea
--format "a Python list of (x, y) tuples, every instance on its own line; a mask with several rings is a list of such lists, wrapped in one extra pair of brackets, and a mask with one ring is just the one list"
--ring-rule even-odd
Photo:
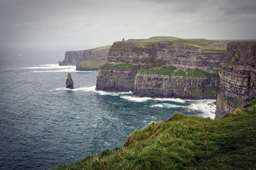
[(120, 148), (56, 169), (256, 169), (256, 100), (211, 120), (174, 114), (135, 130)]

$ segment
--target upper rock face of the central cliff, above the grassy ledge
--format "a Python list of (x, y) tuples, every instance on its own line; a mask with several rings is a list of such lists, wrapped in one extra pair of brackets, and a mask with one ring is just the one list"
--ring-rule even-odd
[(224, 52), (205, 51), (172, 42), (115, 42), (109, 50), (108, 63), (133, 63), (140, 66), (175, 66), (180, 70), (200, 68), (218, 72)]

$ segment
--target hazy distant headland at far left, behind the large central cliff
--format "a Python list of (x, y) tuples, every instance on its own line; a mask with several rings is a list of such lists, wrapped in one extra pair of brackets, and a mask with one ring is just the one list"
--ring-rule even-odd
[(66, 51), (65, 59), (59, 65), (76, 65), (77, 70), (95, 70), (108, 61), (108, 51), (111, 46), (98, 47), (89, 50)]

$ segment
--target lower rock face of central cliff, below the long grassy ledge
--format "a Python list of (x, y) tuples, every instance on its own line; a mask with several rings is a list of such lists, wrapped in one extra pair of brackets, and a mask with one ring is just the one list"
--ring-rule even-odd
[(219, 77), (182, 77), (138, 73), (134, 82), (134, 95), (138, 97), (175, 97), (214, 99), (217, 97)]

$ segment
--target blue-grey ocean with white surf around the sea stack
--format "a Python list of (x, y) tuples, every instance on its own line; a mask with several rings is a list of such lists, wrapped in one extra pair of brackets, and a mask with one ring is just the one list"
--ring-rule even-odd
[[(98, 71), (58, 66), (60, 53), (0, 56), (0, 169), (49, 169), (104, 148), (175, 112), (214, 118), (215, 100), (95, 91)], [(65, 89), (67, 72), (75, 89)]]

